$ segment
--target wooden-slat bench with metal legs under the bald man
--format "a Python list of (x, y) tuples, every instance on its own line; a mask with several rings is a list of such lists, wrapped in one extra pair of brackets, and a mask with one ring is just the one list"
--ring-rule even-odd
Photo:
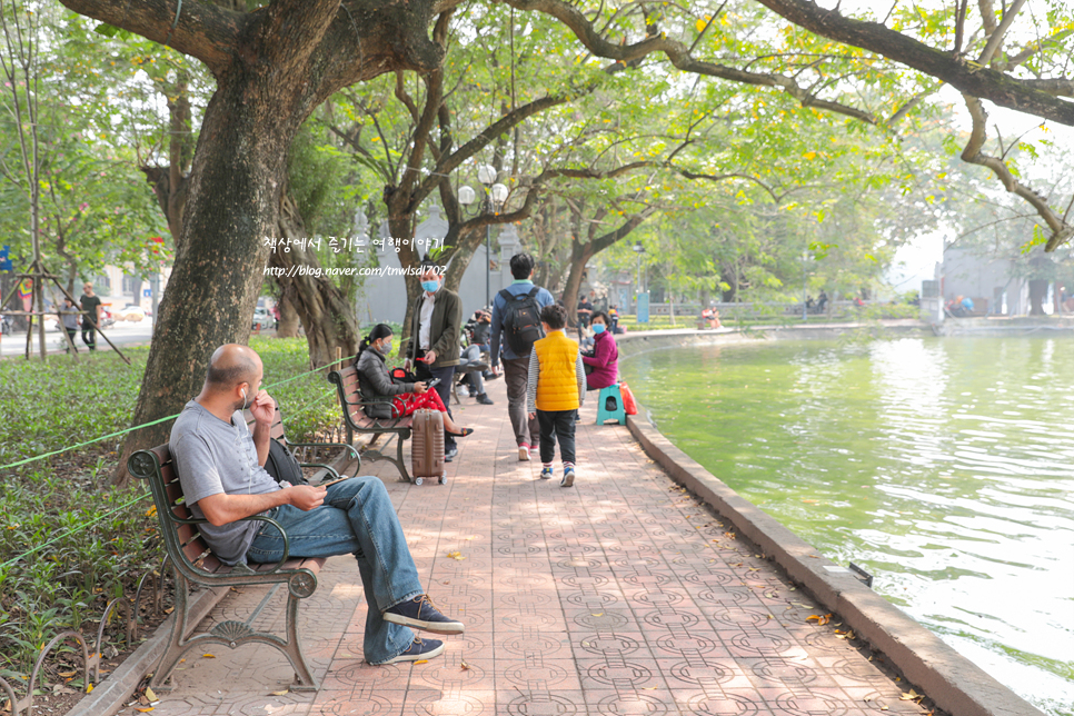
[[(272, 437), (277, 439), (284, 437), (278, 407), (272, 424)], [(331, 444), (292, 444), (291, 447), (304, 445), (329, 446)], [(357, 457), (357, 453), (350, 446), (341, 444), (336, 444), (336, 446), (349, 449), (354, 457)], [(327, 468), (326, 473), (330, 476), (335, 476), (336, 473), (327, 465), (306, 464), (302, 466)], [(149, 450), (138, 450), (127, 461), (127, 469), (135, 477), (149, 481), (149, 488), (157, 508), (157, 517), (160, 521), (160, 533), (163, 536), (167, 561), (170, 561), (176, 576), (175, 621), (165, 653), (153, 672), (150, 686), (160, 692), (170, 690), (172, 685), (168, 684), (168, 678), (176, 666), (179, 665), (182, 655), (195, 647), (206, 644), (223, 644), (233, 649), (245, 644), (259, 643), (276, 647), (291, 663), (296, 682), (291, 686), (292, 690), (316, 690), (319, 688), (317, 679), (314, 678), (302, 654), (298, 633), (298, 601), (309, 597), (317, 589), (317, 574), (324, 566), (325, 559), (289, 559), (287, 533), (275, 520), (261, 515), (253, 515), (245, 519), (269, 523), (275, 525), (284, 535), (284, 557), (274, 564), (229, 567), (212, 554), (198, 531), (198, 525), (208, 520), (195, 519), (190, 513), (182, 494), (182, 485), (176, 474), (171, 451), (167, 445)], [(246, 621), (229, 619), (215, 625), (206, 634), (187, 638), (188, 634), (197, 626), (190, 623), (188, 594), (190, 585), (201, 587), (271, 586), (271, 589)], [(258, 632), (252, 626), (253, 620), (260, 615), (269, 599), (284, 585), (287, 585), (288, 591), (286, 638)]]

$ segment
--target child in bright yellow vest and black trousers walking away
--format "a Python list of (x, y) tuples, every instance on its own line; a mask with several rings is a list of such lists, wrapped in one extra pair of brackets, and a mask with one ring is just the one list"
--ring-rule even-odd
[(567, 338), (567, 310), (563, 306), (540, 309), (544, 338), (529, 355), (527, 406), (530, 419), (540, 426), (540, 479), (551, 479), (551, 463), (563, 458), (560, 487), (575, 484), (575, 420), (586, 399), (586, 371), (578, 344)]

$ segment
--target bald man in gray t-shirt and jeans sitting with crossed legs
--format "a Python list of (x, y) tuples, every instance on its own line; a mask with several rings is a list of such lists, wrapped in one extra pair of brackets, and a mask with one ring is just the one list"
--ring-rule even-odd
[[(277, 483), (266, 470), (276, 401), (261, 390), (260, 356), (236, 344), (209, 361), (201, 392), (187, 402), (171, 428), (169, 446), (198, 530), (223, 563), (275, 563), (291, 557), (352, 554), (368, 603), (362, 648), (369, 664), (417, 662), (439, 655), (444, 643), (421, 639), (410, 627), (463, 634), (432, 604), (407, 547), (384, 483), (351, 477), (329, 487)], [(251, 435), (242, 418), (250, 409)], [(286, 484), (285, 484), (286, 485)], [(286, 531), (285, 544), (263, 515)]]

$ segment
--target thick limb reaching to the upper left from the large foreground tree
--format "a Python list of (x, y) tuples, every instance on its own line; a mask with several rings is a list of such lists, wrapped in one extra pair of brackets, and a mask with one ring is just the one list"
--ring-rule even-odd
[(177, 13), (173, 0), (60, 0), (88, 18), (167, 44), (205, 62), (219, 77), (231, 63), (246, 13), (231, 12), (210, 2), (186, 0)]

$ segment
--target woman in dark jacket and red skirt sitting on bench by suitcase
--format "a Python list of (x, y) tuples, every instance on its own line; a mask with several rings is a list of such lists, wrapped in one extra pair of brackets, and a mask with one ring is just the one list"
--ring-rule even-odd
[[(455, 437), (466, 437), (474, 428), (456, 425), (444, 407), (436, 390), (426, 382), (392, 382), (385, 366), (385, 356), (391, 352), (391, 328), (385, 324), (374, 326), (358, 347), (358, 385), (364, 400), (384, 400), (364, 407), (370, 418), (401, 418), (415, 410), (439, 410), (444, 414), (444, 430)], [(385, 398), (391, 398), (389, 404)]]

